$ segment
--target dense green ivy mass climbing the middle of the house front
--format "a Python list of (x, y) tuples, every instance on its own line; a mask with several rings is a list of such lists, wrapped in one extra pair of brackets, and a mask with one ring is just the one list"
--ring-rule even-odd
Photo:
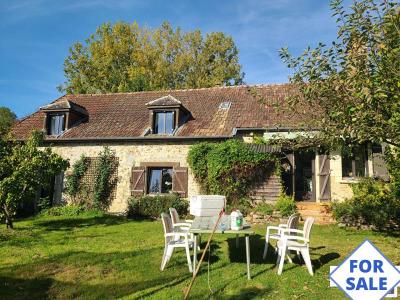
[(227, 196), (232, 205), (248, 195), (260, 178), (271, 176), (279, 159), (240, 140), (193, 145), (188, 164), (203, 192)]

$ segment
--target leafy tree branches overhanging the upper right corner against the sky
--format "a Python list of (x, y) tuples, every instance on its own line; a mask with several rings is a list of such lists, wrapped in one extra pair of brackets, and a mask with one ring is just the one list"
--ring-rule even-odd
[[(337, 40), (299, 57), (280, 55), (293, 70), (300, 93), (289, 98), (294, 113), (320, 130), (329, 145), (365, 141), (400, 146), (400, 4), (397, 1), (331, 1)], [(302, 111), (300, 102), (313, 109)]]

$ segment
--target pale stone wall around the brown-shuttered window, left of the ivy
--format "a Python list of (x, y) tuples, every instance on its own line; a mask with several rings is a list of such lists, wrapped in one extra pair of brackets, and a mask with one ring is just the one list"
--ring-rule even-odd
[[(69, 159), (72, 166), (84, 154), (96, 157), (104, 146), (109, 146), (115, 151), (119, 159), (118, 185), (115, 200), (110, 206), (110, 212), (121, 213), (127, 208), (130, 197), (130, 178), (132, 167), (139, 166), (141, 162), (171, 162), (179, 163), (181, 167), (188, 167), (186, 157), (192, 143), (93, 143), (93, 144), (68, 144), (55, 145), (52, 149), (63, 158)], [(68, 172), (68, 171), (67, 171)], [(195, 182), (192, 172), (188, 171), (188, 196), (199, 194), (200, 188)]]

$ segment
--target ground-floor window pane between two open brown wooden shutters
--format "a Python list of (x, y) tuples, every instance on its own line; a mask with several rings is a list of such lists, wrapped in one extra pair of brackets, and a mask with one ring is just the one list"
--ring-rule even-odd
[(148, 168), (147, 193), (166, 194), (172, 191), (172, 168)]

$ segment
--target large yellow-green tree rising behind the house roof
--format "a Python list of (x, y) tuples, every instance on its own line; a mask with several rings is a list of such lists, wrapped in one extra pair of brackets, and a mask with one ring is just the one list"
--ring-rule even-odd
[(134, 92), (240, 84), (243, 73), (230, 36), (182, 32), (168, 22), (151, 30), (106, 23), (64, 62), (67, 93)]

